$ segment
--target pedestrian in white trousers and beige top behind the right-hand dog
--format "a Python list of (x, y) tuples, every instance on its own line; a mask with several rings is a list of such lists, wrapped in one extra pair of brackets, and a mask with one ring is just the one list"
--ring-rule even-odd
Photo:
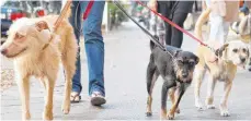
[(223, 45), (227, 40), (230, 23), (239, 19), (239, 1), (206, 0), (206, 7), (210, 9), (208, 40)]

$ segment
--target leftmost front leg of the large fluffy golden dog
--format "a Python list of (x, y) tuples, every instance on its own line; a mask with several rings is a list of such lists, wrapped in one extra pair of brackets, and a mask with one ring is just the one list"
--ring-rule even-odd
[(30, 120), (30, 81), (28, 76), (21, 77), (18, 75), (18, 86), (20, 89), (20, 97), (22, 101), (22, 119)]

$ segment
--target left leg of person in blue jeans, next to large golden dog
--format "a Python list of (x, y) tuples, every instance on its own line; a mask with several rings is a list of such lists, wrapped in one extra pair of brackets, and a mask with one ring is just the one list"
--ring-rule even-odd
[[(72, 1), (72, 7), (71, 7), (71, 17), (69, 19), (70, 24), (73, 26), (75, 35), (77, 38), (77, 43), (79, 46), (79, 40), (80, 40), (80, 32), (79, 29), (81, 28), (81, 19), (78, 17), (81, 14), (80, 8), (77, 5), (79, 4), (79, 1)], [(81, 62), (80, 62), (80, 48), (78, 48), (78, 57), (77, 57), (77, 63), (76, 63), (76, 73), (72, 78), (72, 92), (76, 93), (76, 95), (80, 94), (82, 90), (82, 85), (81, 85)]]

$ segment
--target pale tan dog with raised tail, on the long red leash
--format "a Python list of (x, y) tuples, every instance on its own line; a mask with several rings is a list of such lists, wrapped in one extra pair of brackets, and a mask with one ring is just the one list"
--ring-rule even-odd
[[(205, 10), (204, 13), (199, 16), (196, 27), (195, 27), (195, 35), (202, 39), (202, 25), (206, 21), (208, 13), (210, 12), (209, 9)], [(232, 81), (236, 76), (237, 68), (244, 66), (248, 63), (248, 59), (250, 57), (250, 49), (249, 45), (244, 44), (241, 40), (229, 41), (225, 45), (219, 45), (216, 41), (208, 43), (210, 47), (216, 47), (218, 45), (217, 53), (218, 58), (215, 57), (215, 52), (208, 49), (205, 46), (199, 46), (197, 48), (197, 56), (199, 58), (199, 62), (195, 68), (194, 74), (194, 94), (195, 94), (195, 106), (202, 109), (202, 104), (199, 99), (199, 90), (202, 81), (206, 71), (209, 72), (209, 80), (208, 80), (208, 90), (206, 97), (206, 106), (207, 108), (214, 108), (214, 89), (217, 81), (225, 83), (225, 93), (219, 106), (220, 114), (224, 117), (229, 116), (228, 112), (228, 96), (231, 90)]]

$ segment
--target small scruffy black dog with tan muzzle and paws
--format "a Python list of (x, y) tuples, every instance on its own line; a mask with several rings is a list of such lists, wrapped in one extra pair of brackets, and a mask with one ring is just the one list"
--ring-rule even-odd
[[(174, 112), (179, 111), (178, 106), (186, 87), (193, 80), (195, 65), (198, 58), (189, 51), (168, 46), (163, 51), (152, 41), (150, 43), (150, 62), (147, 68), (147, 116), (151, 116), (152, 89), (159, 75), (163, 78), (161, 93), (161, 118), (167, 119), (167, 94), (169, 92), (172, 108), (168, 113), (169, 119), (174, 118)], [(176, 90), (176, 96), (174, 93)]]

